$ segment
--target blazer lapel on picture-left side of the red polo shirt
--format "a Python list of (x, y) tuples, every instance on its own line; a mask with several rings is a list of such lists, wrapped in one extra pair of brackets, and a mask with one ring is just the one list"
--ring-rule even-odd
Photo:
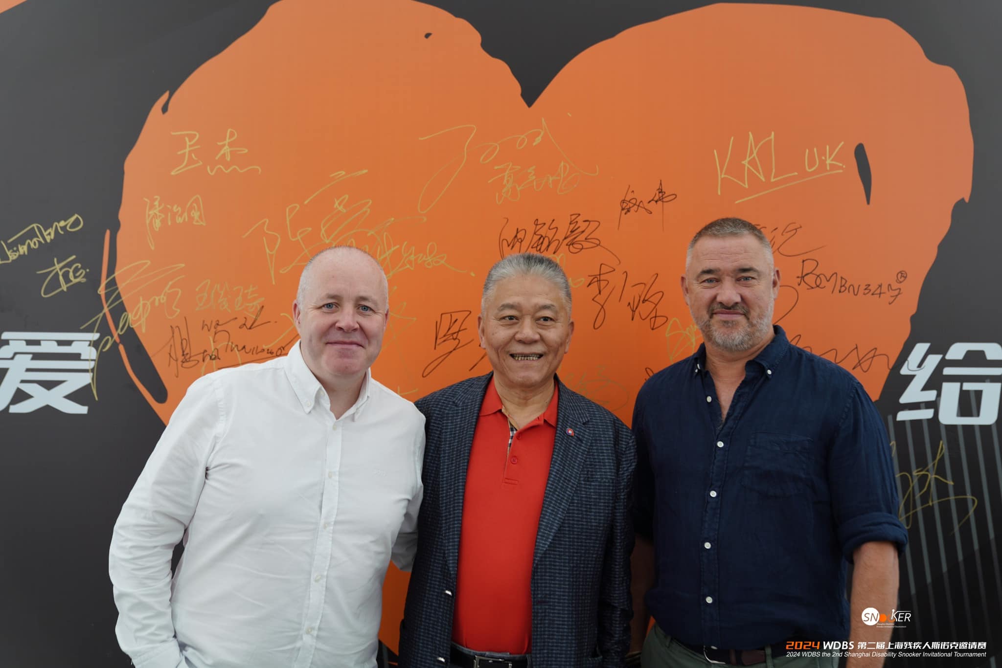
[(455, 412), (444, 422), (442, 430), (442, 479), (444, 518), (446, 522), (446, 563), (455, 577), (459, 562), (459, 536), (463, 527), (463, 496), (466, 493), (466, 469), (470, 464), (473, 435), (477, 431), (480, 405), (491, 375), (483, 376), (479, 383), (467, 385), (453, 398)]

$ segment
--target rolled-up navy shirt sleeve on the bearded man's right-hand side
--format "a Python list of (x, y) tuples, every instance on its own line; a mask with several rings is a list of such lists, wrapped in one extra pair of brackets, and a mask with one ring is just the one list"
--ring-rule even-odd
[(854, 383), (829, 451), (829, 487), (842, 554), (850, 562), (859, 546), (890, 541), (899, 551), (908, 532), (898, 519), (898, 491), (891, 446), (880, 414)]

